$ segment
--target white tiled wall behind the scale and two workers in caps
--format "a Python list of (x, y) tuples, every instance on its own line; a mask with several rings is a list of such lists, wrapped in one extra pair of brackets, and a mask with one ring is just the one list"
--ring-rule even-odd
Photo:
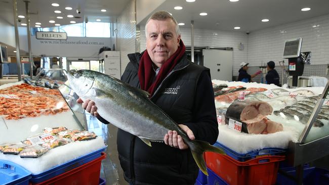
[(303, 38), (302, 52), (312, 52), (312, 65), (329, 63), (329, 15), (251, 32), (248, 62), (260, 66), (262, 61), (272, 60), (278, 65), (283, 60), (284, 40), (297, 37)]

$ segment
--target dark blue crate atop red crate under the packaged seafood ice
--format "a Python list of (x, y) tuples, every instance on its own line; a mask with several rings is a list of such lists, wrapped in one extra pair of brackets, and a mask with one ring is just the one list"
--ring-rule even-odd
[(95, 152), (86, 154), (84, 156), (81, 156), (79, 158), (73, 159), (71, 161), (68, 161), (64, 164), (55, 166), (55, 167), (53, 167), (45, 172), (39, 173), (39, 174), (32, 173), (31, 174), (32, 178), (30, 179), (30, 181), (32, 181), (33, 183), (40, 183), (40, 182), (46, 181), (50, 178), (53, 178), (55, 176), (58, 176), (62, 173), (65, 173), (67, 171), (70, 171), (78, 166), (81, 166), (83, 164), (86, 164), (92, 160), (95, 160), (95, 159), (101, 157), (101, 155), (102, 155), (101, 153), (103, 151), (105, 151), (105, 149), (106, 149), (106, 147), (104, 147), (100, 150), (97, 150)]

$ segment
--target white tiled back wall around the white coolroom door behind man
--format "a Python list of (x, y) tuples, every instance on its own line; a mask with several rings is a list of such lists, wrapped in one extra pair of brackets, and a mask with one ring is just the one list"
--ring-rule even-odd
[[(181, 37), (185, 45), (191, 45), (191, 29), (180, 28)], [(141, 26), (141, 51), (146, 49), (145, 25)], [(243, 50), (238, 50), (242, 42)], [(238, 74), (239, 64), (247, 60), (248, 35), (238, 31), (219, 31), (194, 29), (194, 45), (198, 47), (230, 47), (233, 48), (233, 75)]]

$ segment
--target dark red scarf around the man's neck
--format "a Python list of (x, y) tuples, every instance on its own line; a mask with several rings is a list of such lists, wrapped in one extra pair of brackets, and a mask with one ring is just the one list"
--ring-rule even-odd
[(153, 81), (152, 79), (155, 76), (155, 72), (152, 66), (153, 62), (148, 55), (147, 50), (145, 50), (139, 62), (138, 68), (138, 78), (141, 89), (148, 91), (152, 96), (157, 85), (174, 69), (176, 64), (183, 57), (184, 53), (185, 45), (183, 41), (180, 40), (177, 51), (164, 64), (162, 64), (159, 73)]

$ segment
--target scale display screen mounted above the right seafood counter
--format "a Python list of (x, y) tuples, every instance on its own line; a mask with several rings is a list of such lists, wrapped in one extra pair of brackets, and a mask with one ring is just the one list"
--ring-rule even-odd
[(285, 40), (283, 58), (296, 58), (299, 57), (302, 47), (302, 38), (295, 38), (290, 40)]

